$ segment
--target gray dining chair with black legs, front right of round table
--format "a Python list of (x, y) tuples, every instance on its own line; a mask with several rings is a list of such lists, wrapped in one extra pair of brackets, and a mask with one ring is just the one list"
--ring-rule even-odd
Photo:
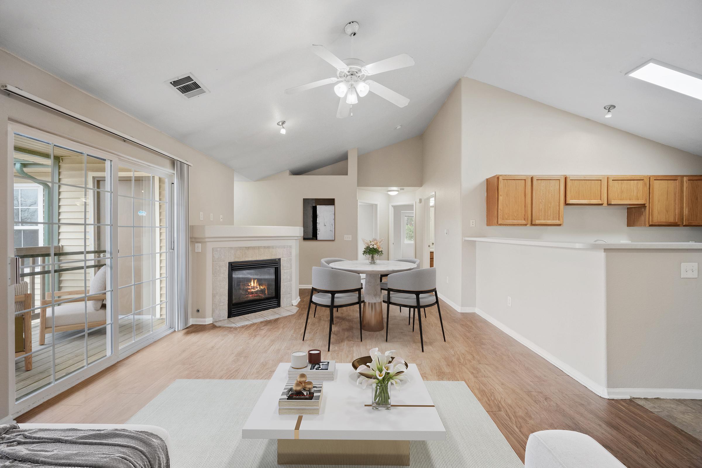
[[(390, 326), (390, 305), (407, 307), (419, 316), (419, 339), (424, 352), (424, 335), (422, 332), (421, 309), (436, 306), (439, 312), (441, 333), (444, 333), (444, 321), (441, 318), (439, 295), (437, 294), (437, 273), (434, 268), (413, 269), (409, 272), (392, 273), (388, 276), (388, 293), (383, 294), (383, 302), (388, 305), (385, 315), (385, 341), (388, 341), (388, 326)], [(414, 325), (412, 325), (414, 330)]]

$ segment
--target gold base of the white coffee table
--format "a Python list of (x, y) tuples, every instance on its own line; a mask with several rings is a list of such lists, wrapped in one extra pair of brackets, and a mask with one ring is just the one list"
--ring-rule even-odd
[(409, 441), (278, 439), (278, 464), (409, 466)]

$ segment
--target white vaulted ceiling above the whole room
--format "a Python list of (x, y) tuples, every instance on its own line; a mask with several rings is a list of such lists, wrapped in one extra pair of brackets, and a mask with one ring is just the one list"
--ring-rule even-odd
[[(334, 76), (307, 46), (350, 58), (351, 20), (357, 58), (414, 58), (374, 76), (406, 107), (369, 93), (337, 119), (331, 85), (284, 93)], [(4, 0), (0, 47), (256, 180), (423, 133), (463, 74), (702, 154), (702, 101), (624, 75), (649, 58), (702, 74), (701, 24), (697, 0)], [(186, 73), (211, 93), (178, 95)]]

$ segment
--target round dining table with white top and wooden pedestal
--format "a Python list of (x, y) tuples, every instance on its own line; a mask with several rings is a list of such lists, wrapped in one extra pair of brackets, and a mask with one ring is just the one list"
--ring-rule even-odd
[(329, 266), (344, 272), (366, 275), (366, 284), (363, 288), (364, 305), (361, 328), (366, 331), (380, 331), (385, 328), (383, 326), (383, 293), (380, 289), (380, 275), (406, 272), (416, 268), (417, 265), (395, 260), (378, 260), (372, 264), (368, 260), (345, 260), (330, 263)]

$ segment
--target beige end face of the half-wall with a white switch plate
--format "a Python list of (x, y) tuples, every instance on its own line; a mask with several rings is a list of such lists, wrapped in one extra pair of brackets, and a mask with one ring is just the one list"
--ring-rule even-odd
[(701, 398), (702, 277), (680, 278), (680, 263), (702, 265), (702, 252), (617, 250), (606, 261), (609, 387)]

